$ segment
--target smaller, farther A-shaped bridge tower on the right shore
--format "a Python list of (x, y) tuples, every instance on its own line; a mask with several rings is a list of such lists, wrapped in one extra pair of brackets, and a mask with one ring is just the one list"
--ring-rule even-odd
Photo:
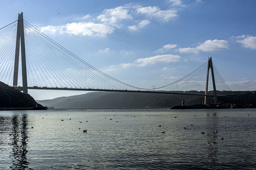
[[(208, 92), (209, 69), (211, 69), (211, 73), (212, 73), (212, 85), (213, 85), (213, 91), (214, 91), (214, 103), (218, 104), (216, 85), (215, 85), (215, 78), (214, 78), (214, 71), (213, 71), (213, 66), (212, 66), (212, 57), (208, 58), (206, 85), (205, 85), (205, 95)], [(204, 104), (206, 104), (206, 99), (207, 99), (207, 96), (204, 96)]]

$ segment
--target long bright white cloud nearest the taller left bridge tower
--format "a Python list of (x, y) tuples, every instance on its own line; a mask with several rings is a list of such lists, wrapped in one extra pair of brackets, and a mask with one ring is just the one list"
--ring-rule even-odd
[(96, 24), (93, 22), (72, 22), (65, 25), (48, 25), (40, 27), (40, 31), (48, 34), (67, 33), (75, 36), (106, 36), (111, 34), (114, 29), (104, 24)]

